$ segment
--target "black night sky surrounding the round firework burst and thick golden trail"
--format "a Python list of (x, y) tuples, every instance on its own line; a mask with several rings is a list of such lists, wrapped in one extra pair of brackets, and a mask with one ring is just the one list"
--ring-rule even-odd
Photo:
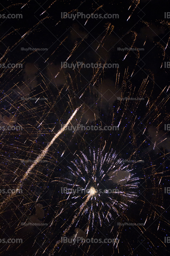
[[(52, 228), (49, 228), (48, 224), (48, 227), (43, 229), (42, 232), (36, 230), (32, 233), (25, 232), (25, 234), (20, 234), (18, 233), (20, 231), (17, 231), (18, 225), (20, 225), (18, 223), (21, 220), (23, 222), (26, 221), (24, 219), (25, 216), (28, 217), (35, 214), (34, 205), (37, 203), (37, 200), (38, 203), (43, 205), (45, 210), (45, 220), (42, 218), (42, 221), (44, 223), (50, 223), (54, 218), (54, 212), (59, 211), (59, 208), (56, 210), (56, 207), (59, 207), (59, 202), (62, 198), (62, 195), (60, 195), (61, 184), (54, 184), (52, 180), (54, 180), (56, 175), (60, 178), (72, 179), (73, 177), (68, 172), (67, 166), (71, 166), (71, 161), (74, 161), (76, 158), (74, 152), (76, 150), (77, 152), (84, 151), (88, 155), (90, 147), (95, 150), (97, 148), (102, 149), (104, 141), (106, 141), (106, 152), (110, 150), (110, 143), (112, 142), (111, 148), (117, 151), (117, 153), (121, 152), (119, 157), (128, 159), (135, 152), (135, 159), (145, 160), (144, 164), (133, 165), (134, 170), (132, 173), (134, 177), (139, 177), (140, 179), (138, 192), (136, 192), (138, 194), (138, 201), (135, 204), (131, 204), (126, 210), (126, 215), (130, 222), (135, 220), (136, 223), (143, 223), (146, 220), (146, 216), (148, 216), (145, 234), (143, 234), (141, 239), (141, 236), (138, 238), (139, 234), (141, 234), (138, 231), (131, 227), (123, 228), (120, 232), (119, 252), (114, 247), (114, 254), (111, 244), (101, 247), (95, 244), (90, 247), (89, 251), (87, 251), (87, 247), (62, 246), (60, 249), (59, 246), (60, 251), (58, 252), (57, 250), (59, 249), (56, 249), (54, 255), (80, 254), (95, 256), (105, 255), (106, 253), (108, 256), (169, 255), (169, 245), (163, 243), (164, 237), (170, 236), (168, 209), (170, 195), (164, 193), (164, 187), (169, 186), (168, 157), (170, 153), (170, 134), (166, 132), (165, 135), (164, 130), (164, 125), (168, 124), (170, 111), (169, 91), (166, 92), (169, 86), (170, 73), (169, 69), (164, 66), (164, 62), (170, 61), (169, 44), (166, 47), (170, 37), (170, 19), (165, 19), (164, 13), (170, 12), (170, 2), (143, 0), (138, 5), (137, 2), (95, 2), (85, 0), (84, 2), (55, 1), (53, 3), (51, 0), (41, 2), (30, 0), (17, 3), (17, 1), (1, 1), (0, 14), (18, 13), (23, 15), (22, 19), (0, 18), (0, 57), (2, 57), (0, 63), (3, 64), (6, 60), (6, 63), (23, 64), (22, 69), (15, 69), (11, 72), (9, 69), (1, 68), (1, 113), (2, 116), (9, 116), (10, 114), (17, 116), (17, 125), (24, 127), (24, 131), (22, 132), (15, 131), (15, 133), (12, 133), (7, 131), (0, 134), (0, 140), (2, 141), (2, 188), (8, 188), (9, 186), (16, 187), (17, 182), (20, 182), (20, 179), (31, 165), (22, 165), (16, 159), (36, 159), (48, 142), (51, 141), (54, 134), (60, 129), (60, 124), (66, 124), (68, 118), (71, 116), (71, 111), (73, 112), (81, 104), (85, 104), (93, 111), (96, 109), (98, 111), (96, 113), (99, 115), (99, 118), (95, 122), (89, 122), (86, 119), (87, 117), (83, 116), (85, 112), (83, 105), (76, 116), (77, 119), (80, 118), (83, 125), (86, 122), (89, 122), (88, 124), (95, 123), (96, 125), (100, 125), (100, 122), (102, 125), (118, 125), (122, 118), (120, 131), (114, 133), (107, 131), (100, 135), (92, 131), (89, 133), (76, 132), (73, 136), (71, 132), (67, 131), (61, 134), (60, 141), (55, 142), (45, 158), (48, 159), (48, 163), (34, 168), (35, 172), (25, 180), (22, 187), (25, 191), (24, 194), (15, 196), (11, 204), (9, 201), (5, 210), (2, 211), (1, 237), (22, 236), (24, 240), (24, 243), (19, 247), (14, 244), (8, 248), (7, 245), (4, 247), (3, 244), (1, 246), (2, 255), (9, 255), (11, 253), (12, 255), (18, 256), (35, 255), (36, 252), (36, 255), (42, 255), (46, 244), (49, 244), (49, 247), (44, 255), (49, 255), (54, 244), (63, 234), (64, 228), (62, 228), (62, 224), (63, 226), (65, 225), (64, 220), (68, 216), (71, 216), (71, 218), (74, 216), (73, 208), (67, 206), (67, 211), (62, 215), (63, 219), (61, 222), (55, 223)], [(102, 15), (105, 13), (115, 13), (119, 14), (119, 18), (103, 20), (90, 18), (88, 21), (87, 19), (81, 18), (75, 19), (74, 21), (72, 19), (61, 19), (61, 12), (75, 14), (78, 11), (84, 14), (90, 14), (101, 5), (102, 7), (95, 13), (101, 13)], [(130, 5), (131, 8), (129, 9)], [(24, 7), (21, 9), (22, 6)], [(45, 10), (46, 12), (43, 13)], [(43, 14), (40, 15), (41, 13)], [(127, 21), (130, 15), (131, 17)], [(110, 27), (109, 23), (111, 24)], [(147, 24), (149, 27), (147, 27)], [(82, 40), (80, 37), (74, 37), (73, 39), (71, 31), (75, 26), (79, 28), (79, 33), (83, 33), (84, 36), (88, 35), (87, 38)], [(114, 28), (112, 27), (111, 29), (111, 26), (114, 26)], [(96, 40), (101, 42), (108, 27), (109, 32), (103, 40), (103, 47), (105, 47), (106, 51), (102, 54), (98, 51), (98, 54), (96, 54), (94, 51), (97, 45), (95, 44)], [(27, 35), (21, 39), (26, 32)], [(67, 39), (65, 39), (66, 37)], [(61, 42), (63, 43), (61, 44)], [(76, 43), (78, 47), (72, 52)], [(117, 47), (131, 47), (132, 44), (133, 48), (144, 48), (144, 51), (131, 51), (124, 59), (127, 51), (118, 51)], [(22, 47), (47, 48), (48, 50), (26, 52), (21, 50)], [(10, 49), (9, 51), (7, 51), (8, 48)], [(100, 46), (99, 48), (101, 49), (102, 47)], [(57, 78), (56, 80), (50, 81), (51, 78), (49, 77), (47, 68), (50, 65), (59, 67), (61, 62), (67, 60), (71, 52), (72, 55), (67, 61), (69, 64), (72, 62), (75, 64), (76, 61), (84, 62), (85, 64), (91, 62), (96, 63), (97, 61), (100, 61), (102, 64), (105, 62), (111, 64), (118, 63), (120, 84), (123, 88), (120, 89), (122, 95), (124, 97), (130, 95), (140, 97), (140, 95), (144, 95), (144, 100), (139, 103), (137, 101), (131, 101), (126, 106), (125, 101), (104, 101), (103, 98), (102, 101), (99, 100), (99, 92), (101, 92), (101, 88), (104, 88), (104, 86), (101, 87), (101, 80), (110, 79), (115, 83), (117, 76), (117, 70), (115, 68), (108, 68), (104, 71), (102, 69), (98, 70), (96, 76), (94, 76), (94, 70), (92, 68), (88, 70), (81, 69), (81, 71), (76, 69), (75, 72), (67, 68), (65, 76), (67, 76), (67, 81), (69, 81), (67, 82), (67, 85), (69, 85), (68, 89), (66, 90), (66, 86), (63, 85), (64, 83), (56, 85), (53, 81), (57, 81)], [(160, 68), (162, 62), (163, 65)], [(23, 103), (20, 100), (21, 95), (16, 95), (15, 89), (25, 81), (27, 63), (32, 63), (38, 67), (37, 71), (34, 72), (37, 76), (38, 85), (35, 88), (32, 84), (27, 86), (31, 90), (30, 96), (38, 95), (47, 97), (48, 102), (42, 100), (35, 103)], [(124, 72), (125, 70), (127, 71), (127, 68), (129, 77), (127, 79), (128, 82), (125, 80), (125, 83)], [(131, 76), (132, 72), (133, 75)], [(100, 74), (102, 75), (100, 76)], [(54, 72), (52, 75), (55, 76), (56, 73)], [(32, 79), (31, 75), (29, 76), (28, 74), (27, 76), (29, 79)], [(149, 83), (146, 87), (142, 87), (142, 81), (147, 76)], [(42, 77), (44, 77), (44, 84)], [(102, 83), (104, 84), (104, 82)], [(115, 94), (117, 93), (116, 89), (111, 87), (112, 85), (108, 86), (111, 90), (110, 94), (113, 92)], [(165, 87), (166, 90), (162, 92)], [(83, 95), (80, 98), (82, 93)], [(72, 97), (72, 100), (68, 107), (70, 97)], [(148, 99), (149, 103), (146, 105)], [(82, 119), (80, 116), (82, 116)], [(135, 119), (135, 116), (138, 118)], [(44, 120), (42, 127), (37, 127), (37, 120), (39, 120), (39, 123)], [(140, 120), (144, 121), (141, 123)], [(113, 121), (115, 122), (114, 124)], [(77, 124), (75, 120), (74, 122), (74, 124)], [(155, 126), (158, 129), (159, 132), (156, 139), (152, 128), (151, 132), (148, 132), (147, 129), (149, 126)], [(52, 131), (53, 127), (54, 130)], [(146, 132), (143, 135), (145, 128)], [(164, 144), (158, 144), (162, 140), (161, 138), (165, 138), (165, 136), (166, 141), (168, 141), (167, 144), (165, 142)], [(146, 140), (145, 143), (143, 143), (144, 140)], [(155, 140), (157, 141), (157, 146), (153, 150)], [(61, 156), (63, 152), (65, 153)], [(151, 166), (155, 167), (150, 168)], [(15, 170), (18, 171), (15, 173)], [(159, 174), (157, 175), (155, 172)], [(160, 178), (162, 181), (159, 186)], [(114, 185), (118, 188), (120, 187), (117, 184)], [(39, 199), (38, 195), (40, 195)], [(1, 202), (3, 202), (4, 198), (1, 198)], [(72, 200), (69, 202), (70, 205), (73, 203)], [(107, 198), (103, 199), (103, 201), (106, 204)], [(29, 211), (26, 211), (26, 207), (28, 207), (27, 209)], [(154, 210), (157, 212), (155, 217), (153, 217)], [(110, 238), (112, 234), (117, 233), (119, 228), (117, 222), (125, 222), (126, 220), (119, 216), (118, 221), (116, 216), (114, 215), (113, 233), (110, 232), (110, 227), (106, 228), (103, 224), (102, 227), (99, 226), (100, 231), (96, 231), (96, 238)], [(71, 218), (69, 219), (69, 224), (72, 221)], [(85, 223), (84, 219), (82, 223), (83, 221)], [(97, 223), (97, 220), (95, 221)], [(160, 228), (157, 230), (159, 223)], [(74, 228), (75, 226), (73, 225), (68, 236), (74, 234)], [(93, 236), (93, 232), (94, 230), (90, 230), (89, 234)], [(35, 240), (36, 243), (34, 244)], [(43, 244), (44, 241), (45, 244)], [(85, 252), (84, 254), (83, 251)]]

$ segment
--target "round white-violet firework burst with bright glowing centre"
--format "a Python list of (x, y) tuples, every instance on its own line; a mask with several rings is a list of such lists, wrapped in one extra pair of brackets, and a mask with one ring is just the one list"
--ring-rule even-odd
[(72, 225), (83, 226), (82, 229), (85, 229), (87, 235), (89, 230), (94, 229), (94, 225), (102, 226), (107, 222), (107, 225), (112, 227), (117, 215), (122, 214), (137, 197), (139, 178), (133, 177), (132, 170), (128, 169), (128, 165), (122, 164), (123, 159), (117, 159), (113, 149), (110, 153), (103, 153), (100, 149), (97, 153), (89, 149), (87, 157), (81, 152), (81, 157), (78, 156), (78, 159), (72, 162), (74, 167), (68, 167), (72, 179), (63, 179), (62, 190), (64, 189), (66, 194), (63, 201), (69, 204), (69, 207), (74, 205), (76, 210), (64, 235), (67, 235)]

